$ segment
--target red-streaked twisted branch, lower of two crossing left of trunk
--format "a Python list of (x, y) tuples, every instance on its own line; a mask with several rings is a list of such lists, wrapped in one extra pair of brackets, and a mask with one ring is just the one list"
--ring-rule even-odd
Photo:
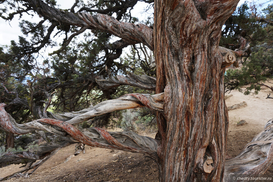
[(75, 140), (92, 147), (125, 150), (134, 153), (156, 154), (157, 142), (146, 136), (134, 132), (108, 132), (102, 128), (90, 128), (79, 131), (77, 128), (61, 120), (43, 120), (42, 122), (58, 126)]

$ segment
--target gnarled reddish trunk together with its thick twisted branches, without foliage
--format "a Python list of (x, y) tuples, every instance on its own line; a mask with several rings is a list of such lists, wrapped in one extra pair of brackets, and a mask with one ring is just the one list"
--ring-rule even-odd
[[(109, 79), (96, 81), (107, 88), (133, 85), (155, 89), (156, 95), (127, 94), (72, 113), (52, 114), (46, 112), (45, 108), (41, 119), (24, 125), (17, 124), (4, 110), (5, 104), (0, 104), (0, 125), (15, 134), (46, 130), (56, 136), (68, 138), (68, 142), (62, 140), (62, 145), (47, 144), (44, 147), (46, 150), (42, 150), (47, 154), (57, 147), (78, 142), (94, 147), (148, 154), (158, 162), (160, 181), (218, 182), (227, 179), (228, 174), (224, 174), (228, 129), (224, 72), (225, 67), (244, 54), (248, 45), (239, 38), (241, 47), (231, 51), (219, 47), (219, 40), (222, 25), (235, 10), (238, 1), (155, 0), (152, 29), (143, 24), (120, 22), (108, 15), (83, 12), (76, 14), (52, 8), (40, 0), (26, 0), (33, 11), (54, 24), (111, 33), (122, 39), (119, 41), (122, 47), (136, 43), (148, 46), (155, 55), (156, 86), (152, 77), (130, 74), (114, 78), (110, 72)], [(80, 131), (73, 126), (96, 115), (136, 107), (148, 107), (157, 111), (158, 134), (155, 140), (132, 132), (111, 133), (100, 128)], [(268, 131), (267, 128), (264, 132)], [(258, 167), (267, 168), (272, 163), (266, 160), (272, 158), (271, 133), (270, 131), (270, 136), (262, 138), (266, 144), (262, 152), (257, 144), (261, 141), (258, 136), (249, 145), (257, 146), (255, 158), (258, 159), (255, 161), (259, 160), (251, 170), (249, 163), (252, 155), (248, 146), (240, 156), (227, 162), (226, 171), (234, 172), (233, 164), (240, 165), (238, 174), (250, 173)], [(261, 136), (264, 134), (261, 133)], [(260, 157), (264, 152), (267, 156)], [(29, 159), (29, 154), (26, 154), (23, 158)], [(8, 157), (3, 156), (9, 163), (13, 159)], [(31, 159), (40, 159), (40, 154)], [(241, 161), (247, 163), (243, 165)], [(259, 172), (261, 173), (262, 171)]]

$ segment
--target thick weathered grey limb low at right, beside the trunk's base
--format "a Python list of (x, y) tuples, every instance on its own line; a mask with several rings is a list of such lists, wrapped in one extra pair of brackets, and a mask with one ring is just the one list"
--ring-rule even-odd
[(265, 129), (248, 143), (235, 158), (226, 160), (224, 181), (231, 181), (231, 174), (248, 174), (248, 177), (264, 174), (273, 163), (273, 119)]

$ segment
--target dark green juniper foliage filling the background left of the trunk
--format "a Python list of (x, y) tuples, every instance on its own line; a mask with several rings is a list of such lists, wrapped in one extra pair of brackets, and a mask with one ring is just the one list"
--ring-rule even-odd
[[(42, 1), (50, 7), (58, 8), (55, 0)], [(139, 23), (132, 17), (130, 10), (137, 1), (94, 0), (79, 1), (73, 9), (62, 9), (63, 14), (73, 12), (101, 13), (114, 16), (117, 20)], [(151, 2), (153, 3), (153, 2)], [(0, 7), (2, 19), (11, 21), (14, 18), (24, 18), (24, 14), (37, 16), (35, 8), (25, 1), (3, 1)], [(153, 8), (150, 6), (150, 8)], [(40, 16), (40, 15), (39, 15)], [(152, 16), (151, 16), (152, 17)], [(147, 24), (152, 25), (152, 18)], [(11, 46), (0, 47), (0, 103), (6, 103), (8, 113), (22, 124), (41, 116), (37, 108), (43, 110), (51, 100), (47, 111), (53, 113), (82, 110), (91, 104), (97, 104), (106, 99), (115, 99), (125, 93), (148, 93), (146, 90), (124, 86), (105, 90), (100, 88), (95, 79), (107, 79), (105, 66), (113, 76), (134, 72), (155, 75), (155, 67), (147, 66), (147, 60), (140, 58), (140, 53), (134, 49), (130, 56), (117, 60), (121, 48), (113, 47), (112, 35), (100, 30), (86, 30), (83, 39), (76, 37), (70, 41), (70, 36), (77, 34), (81, 27), (58, 21), (51, 16), (22, 20), (19, 27), (23, 33), (19, 41), (11, 41)], [(143, 22), (142, 22), (143, 23)], [(62, 43), (54, 40), (64, 37)], [(68, 46), (69, 43), (69, 46)], [(54, 51), (45, 59), (40, 55), (46, 47)], [(42, 54), (41, 54), (42, 53)], [(39, 57), (38, 57), (39, 56)], [(124, 89), (124, 90), (122, 90)], [(118, 96), (116, 96), (118, 94)], [(122, 121), (122, 111), (115, 111), (96, 116), (79, 127), (111, 127), (119, 126)], [(1, 132), (2, 143), (5, 132)], [(24, 141), (24, 142), (23, 142)], [(26, 146), (28, 136), (22, 136), (15, 141), (15, 147)], [(26, 148), (21, 147), (23, 150)]]

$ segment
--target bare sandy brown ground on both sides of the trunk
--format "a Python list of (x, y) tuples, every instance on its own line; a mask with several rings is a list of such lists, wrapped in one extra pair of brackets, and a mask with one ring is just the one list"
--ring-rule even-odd
[[(272, 86), (272, 85), (270, 85)], [(270, 93), (262, 88), (258, 95), (243, 95), (231, 91), (226, 99), (227, 106), (247, 103), (245, 107), (229, 111), (227, 154), (235, 157), (253, 137), (261, 131), (265, 123), (273, 118), (273, 99), (265, 99)], [(240, 120), (248, 124), (236, 126)], [(155, 133), (142, 133), (154, 137)], [(12, 178), (7, 181), (158, 181), (157, 165), (143, 154), (86, 147), (86, 153), (74, 154), (74, 145), (62, 148), (52, 158), (42, 164), (29, 178)], [(69, 156), (70, 160), (65, 162)], [(12, 174), (21, 165), (10, 165), (0, 169), (0, 177)], [(273, 174), (273, 168), (269, 169)]]

